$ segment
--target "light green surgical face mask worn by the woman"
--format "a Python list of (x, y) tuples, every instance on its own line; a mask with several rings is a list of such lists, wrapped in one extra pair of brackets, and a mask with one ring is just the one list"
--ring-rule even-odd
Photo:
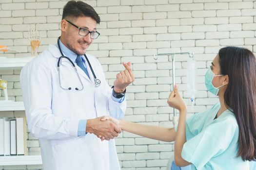
[(211, 93), (213, 93), (215, 96), (218, 95), (218, 90), (219, 90), (219, 87), (222, 87), (223, 85), (220, 85), (218, 87), (215, 87), (213, 85), (213, 78), (214, 77), (217, 77), (217, 76), (223, 76), (222, 74), (220, 75), (214, 75), (213, 71), (209, 68), (205, 75), (204, 75), (204, 84), (207, 88), (208, 91), (210, 91)]

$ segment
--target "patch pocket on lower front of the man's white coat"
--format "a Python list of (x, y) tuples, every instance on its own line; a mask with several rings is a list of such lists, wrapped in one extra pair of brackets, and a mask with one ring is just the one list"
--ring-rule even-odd
[[(56, 170), (93, 170), (85, 137), (53, 146)], [(71, 164), (72, 162), (72, 164)]]

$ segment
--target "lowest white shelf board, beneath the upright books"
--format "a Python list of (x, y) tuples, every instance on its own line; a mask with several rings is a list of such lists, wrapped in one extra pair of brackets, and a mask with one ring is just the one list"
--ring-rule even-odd
[(0, 156), (0, 166), (41, 165), (41, 164), (42, 164), (42, 158), (40, 155)]

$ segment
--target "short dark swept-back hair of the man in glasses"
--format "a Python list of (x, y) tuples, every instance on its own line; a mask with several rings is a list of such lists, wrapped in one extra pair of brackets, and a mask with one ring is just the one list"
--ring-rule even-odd
[(93, 7), (82, 1), (70, 0), (63, 8), (62, 19), (67, 19), (68, 17), (91, 17), (98, 24), (100, 23), (100, 18)]

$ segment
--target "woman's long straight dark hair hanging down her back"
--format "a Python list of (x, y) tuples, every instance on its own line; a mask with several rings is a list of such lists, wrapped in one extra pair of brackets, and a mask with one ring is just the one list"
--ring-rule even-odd
[(239, 128), (237, 156), (256, 159), (256, 58), (252, 51), (239, 47), (219, 50), (220, 71), (228, 75), (224, 101), (236, 116)]

